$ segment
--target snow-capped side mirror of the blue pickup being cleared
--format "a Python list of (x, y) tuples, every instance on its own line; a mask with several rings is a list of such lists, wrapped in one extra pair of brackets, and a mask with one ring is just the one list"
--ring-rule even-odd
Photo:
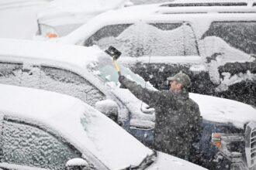
[(112, 121), (118, 121), (118, 105), (115, 101), (110, 99), (98, 101), (95, 104), (95, 108), (111, 118)]

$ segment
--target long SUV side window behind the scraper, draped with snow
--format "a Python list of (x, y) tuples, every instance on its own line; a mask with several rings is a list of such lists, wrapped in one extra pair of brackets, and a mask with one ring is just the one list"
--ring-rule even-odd
[[(112, 31), (107, 32), (109, 29)], [(114, 30), (118, 30), (115, 32)], [(99, 29), (87, 39), (85, 46), (97, 45), (107, 49), (110, 45), (124, 56), (198, 56), (198, 46), (192, 27), (188, 23), (145, 23), (112, 25)]]

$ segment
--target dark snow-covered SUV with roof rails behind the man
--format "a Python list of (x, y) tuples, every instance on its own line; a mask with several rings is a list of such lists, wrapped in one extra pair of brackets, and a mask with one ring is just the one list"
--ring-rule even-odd
[[(182, 70), (192, 92), (256, 106), (256, 2), (173, 1), (102, 13), (59, 42), (115, 46), (157, 89)], [(234, 93), (235, 92), (235, 93)]]

